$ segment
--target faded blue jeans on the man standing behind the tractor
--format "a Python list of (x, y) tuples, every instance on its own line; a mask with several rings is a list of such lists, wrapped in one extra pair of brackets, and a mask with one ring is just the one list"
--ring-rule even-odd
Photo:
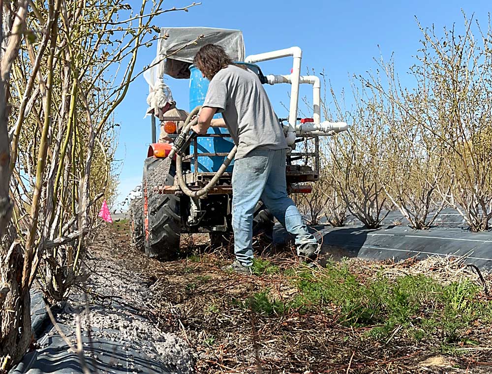
[(234, 252), (245, 266), (253, 263), (253, 213), (261, 199), (285, 229), (295, 237), (298, 253), (316, 239), (307, 231), (299, 210), (287, 196), (285, 149), (253, 150), (234, 161), (232, 174)]

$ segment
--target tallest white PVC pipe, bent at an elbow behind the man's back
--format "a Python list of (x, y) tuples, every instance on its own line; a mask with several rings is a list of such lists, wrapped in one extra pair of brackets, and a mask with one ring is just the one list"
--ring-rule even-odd
[(250, 55), (246, 57), (245, 62), (261, 62), (274, 59), (280, 59), (282, 57), (292, 56), (294, 63), (292, 65), (291, 83), (292, 89), (290, 93), (290, 106), (289, 106), (289, 129), (287, 131), (287, 144), (292, 145), (296, 141), (295, 127), (297, 123), (297, 106), (299, 102), (299, 81), (301, 77), (301, 60), (303, 52), (299, 47), (291, 47), (287, 49), (280, 49), (277, 51), (261, 53), (258, 55)]

